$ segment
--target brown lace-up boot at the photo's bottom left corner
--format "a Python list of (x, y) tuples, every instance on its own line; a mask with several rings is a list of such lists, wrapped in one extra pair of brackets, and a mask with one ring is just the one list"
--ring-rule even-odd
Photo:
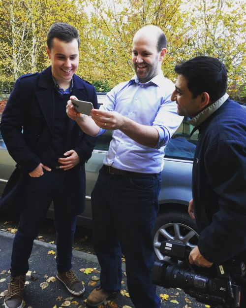
[(8, 291), (4, 299), (5, 308), (22, 308), (22, 294), (25, 288), (26, 275), (10, 278)]

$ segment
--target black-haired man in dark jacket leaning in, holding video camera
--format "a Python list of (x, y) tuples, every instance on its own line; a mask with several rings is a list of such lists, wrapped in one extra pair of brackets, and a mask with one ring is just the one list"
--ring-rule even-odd
[[(191, 118), (192, 133), (199, 131), (188, 212), (200, 237), (189, 263), (246, 262), (246, 106), (229, 99), (227, 70), (215, 58), (195, 57), (175, 71), (171, 99), (179, 115)], [(242, 284), (240, 307), (246, 307)]]

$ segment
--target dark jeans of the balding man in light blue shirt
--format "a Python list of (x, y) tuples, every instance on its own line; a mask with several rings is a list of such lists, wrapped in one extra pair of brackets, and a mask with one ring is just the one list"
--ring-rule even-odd
[(153, 229), (158, 212), (160, 174), (130, 177), (104, 168), (92, 191), (93, 245), (101, 266), (101, 286), (122, 288), (122, 252), (127, 286), (136, 308), (159, 308), (152, 283)]

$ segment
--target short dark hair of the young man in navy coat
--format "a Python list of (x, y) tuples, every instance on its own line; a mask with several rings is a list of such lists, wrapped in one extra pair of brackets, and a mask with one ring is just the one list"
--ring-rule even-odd
[(77, 39), (78, 46), (80, 45), (78, 30), (66, 23), (54, 23), (47, 34), (47, 46), (51, 50), (53, 45), (53, 39), (57, 37), (62, 41), (70, 43), (72, 40)]

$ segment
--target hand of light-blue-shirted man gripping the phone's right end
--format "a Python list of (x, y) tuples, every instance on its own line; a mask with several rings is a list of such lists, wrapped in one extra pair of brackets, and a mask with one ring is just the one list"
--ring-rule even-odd
[(106, 130), (121, 129), (125, 122), (125, 117), (116, 111), (92, 109), (91, 116), (97, 126)]

